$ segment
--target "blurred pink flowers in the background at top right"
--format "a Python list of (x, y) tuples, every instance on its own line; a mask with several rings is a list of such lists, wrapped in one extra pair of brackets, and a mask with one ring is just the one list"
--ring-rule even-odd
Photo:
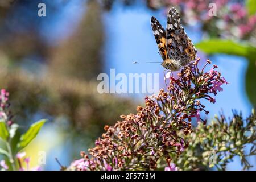
[[(213, 7), (216, 14), (213, 15), (210, 13), (212, 6), (209, 7), (212, 2), (216, 5)], [(203, 30), (210, 36), (222, 35), (224, 38), (249, 39), (250, 36), (253, 36), (253, 31), (256, 28), (256, 14), (249, 15), (243, 2), (232, 0), (148, 0), (148, 6), (152, 8), (165, 6), (167, 9), (170, 6), (179, 6), (185, 24), (200, 21)]]

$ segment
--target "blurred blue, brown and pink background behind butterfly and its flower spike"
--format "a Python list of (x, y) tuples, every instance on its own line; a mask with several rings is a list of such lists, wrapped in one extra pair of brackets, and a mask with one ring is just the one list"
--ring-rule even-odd
[[(41, 2), (46, 17), (38, 16)], [(150, 18), (165, 27), (171, 6), (180, 12), (201, 64), (209, 58), (230, 83), (216, 104), (205, 102), (207, 118), (220, 111), (231, 116), (232, 109), (249, 115), (256, 104), (254, 0), (0, 1), (0, 88), (10, 92), (14, 122), (25, 130), (38, 119), (49, 119), (25, 148), (32, 166), (40, 151), (47, 154), (43, 169), (60, 169), (55, 158), (68, 166), (94, 145), (105, 125), (143, 105), (146, 94), (98, 93), (99, 73), (110, 74), (111, 68), (116, 74), (159, 73), (164, 87), (160, 64), (133, 61), (161, 60)], [(214, 6), (216, 16), (210, 16)], [(255, 166), (256, 159), (250, 162)], [(242, 169), (239, 159), (228, 169)]]

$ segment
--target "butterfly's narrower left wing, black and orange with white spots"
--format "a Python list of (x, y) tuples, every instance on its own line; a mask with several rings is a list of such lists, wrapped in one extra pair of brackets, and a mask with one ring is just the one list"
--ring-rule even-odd
[(168, 59), (167, 47), (166, 47), (166, 31), (159, 21), (152, 16), (151, 26), (155, 35), (156, 43), (158, 44), (159, 52), (163, 60)]

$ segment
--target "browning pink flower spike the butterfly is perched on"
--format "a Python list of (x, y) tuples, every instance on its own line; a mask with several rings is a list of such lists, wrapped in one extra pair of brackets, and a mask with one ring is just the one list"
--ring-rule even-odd
[(106, 133), (95, 142), (88, 152), (81, 152), (82, 159), (69, 167), (76, 170), (176, 170), (171, 155), (180, 155), (188, 143), (184, 136), (192, 131), (191, 120), (205, 121), (200, 113), (205, 110), (201, 99), (215, 102), (220, 87), (227, 82), (216, 65), (209, 72), (199, 70), (197, 59), (170, 77), (167, 92), (147, 96), (145, 106), (137, 107), (137, 114), (121, 115), (122, 121), (105, 126)]

